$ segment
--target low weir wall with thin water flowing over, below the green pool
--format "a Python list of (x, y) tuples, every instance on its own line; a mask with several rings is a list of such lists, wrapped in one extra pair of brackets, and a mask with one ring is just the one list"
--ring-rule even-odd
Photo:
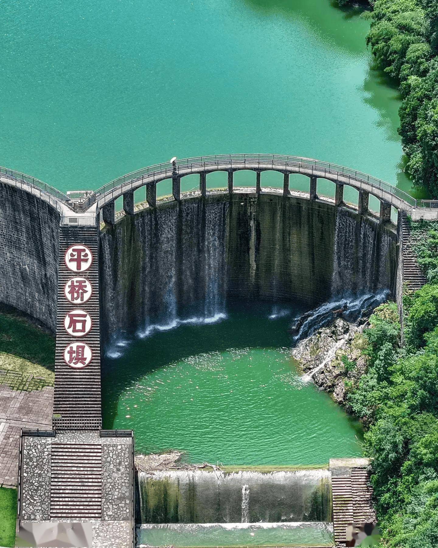
[(328, 470), (139, 474), (141, 523), (330, 522)]

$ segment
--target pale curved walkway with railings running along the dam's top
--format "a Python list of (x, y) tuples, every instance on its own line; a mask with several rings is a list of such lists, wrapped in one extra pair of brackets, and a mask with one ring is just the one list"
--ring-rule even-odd
[[(241, 170), (251, 170), (257, 173), (256, 192), (260, 191), (260, 173), (276, 171), (285, 175), (283, 194), (289, 193), (288, 176), (290, 174), (306, 175), (311, 180), (310, 195), (316, 197), (316, 179), (333, 181), (337, 186), (335, 203), (342, 203), (343, 186), (351, 186), (363, 195), (371, 194), (380, 199), (386, 206), (394, 206), (417, 219), (438, 219), (438, 201), (417, 200), (397, 187), (354, 169), (342, 165), (299, 156), (282, 156), (271, 154), (230, 154), (215, 156), (198, 156), (161, 164), (150, 165), (133, 173), (123, 175), (101, 186), (93, 192), (79, 192), (83, 196), (80, 201), (72, 202), (72, 196), (56, 190), (38, 179), (14, 170), (0, 167), (0, 181), (18, 186), (22, 190), (31, 192), (52, 204), (62, 214), (62, 224), (94, 224), (91, 219), (91, 208), (99, 211), (113, 204), (121, 196), (132, 193), (146, 185), (151, 189), (150, 204), (156, 201), (156, 184), (165, 179), (173, 181), (173, 196), (179, 199), (180, 179), (186, 175), (200, 175), (201, 194), (206, 193), (206, 174), (223, 171), (228, 173), (228, 190), (232, 193), (232, 174)], [(312, 180), (313, 187), (312, 187)], [(312, 190), (313, 189), (313, 190)], [(132, 199), (131, 199), (132, 202)], [(72, 212), (72, 213), (69, 213)], [(84, 215), (84, 213), (88, 215)], [(85, 217), (87, 216), (87, 219)], [(386, 215), (385, 215), (386, 216)], [(81, 219), (84, 218), (82, 222)]]

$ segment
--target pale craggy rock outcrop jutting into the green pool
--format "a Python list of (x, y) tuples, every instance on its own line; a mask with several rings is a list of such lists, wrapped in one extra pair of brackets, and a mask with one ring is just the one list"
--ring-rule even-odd
[(362, 355), (366, 347), (364, 327), (363, 321), (355, 325), (337, 318), (293, 349), (305, 378), (331, 393), (337, 403), (346, 401), (345, 381), (355, 381), (366, 373), (367, 358)]

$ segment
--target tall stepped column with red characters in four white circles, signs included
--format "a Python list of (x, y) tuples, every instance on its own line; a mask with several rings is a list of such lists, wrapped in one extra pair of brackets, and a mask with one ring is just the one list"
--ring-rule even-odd
[(102, 424), (98, 227), (60, 227), (53, 427)]

